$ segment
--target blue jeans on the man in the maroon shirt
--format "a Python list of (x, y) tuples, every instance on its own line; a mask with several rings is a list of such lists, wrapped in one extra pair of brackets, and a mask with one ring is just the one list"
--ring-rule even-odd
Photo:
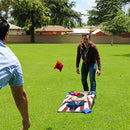
[(83, 84), (84, 91), (89, 91), (87, 77), (89, 72), (89, 78), (90, 78), (90, 85), (91, 85), (91, 91), (96, 91), (96, 80), (95, 80), (95, 73), (97, 70), (97, 64), (87, 64), (83, 63), (81, 68), (81, 81)]

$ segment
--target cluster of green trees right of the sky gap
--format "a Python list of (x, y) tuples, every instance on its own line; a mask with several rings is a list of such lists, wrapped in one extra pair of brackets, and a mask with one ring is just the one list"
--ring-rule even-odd
[(128, 14), (122, 10), (122, 6), (130, 0), (96, 0), (96, 6), (88, 11), (88, 25), (102, 25), (102, 30), (112, 33), (130, 32), (130, 9)]

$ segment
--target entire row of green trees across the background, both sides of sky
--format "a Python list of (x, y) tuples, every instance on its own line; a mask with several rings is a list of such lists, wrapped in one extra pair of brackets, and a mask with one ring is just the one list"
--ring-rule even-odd
[[(105, 31), (113, 34), (128, 32), (130, 9), (125, 14), (122, 6), (129, 2), (130, 0), (96, 0), (96, 6), (87, 12), (88, 22), (85, 24), (102, 24), (106, 27)], [(10, 23), (23, 27), (34, 43), (34, 30), (43, 25), (62, 25), (68, 28), (83, 26), (83, 14), (72, 9), (75, 5), (75, 2), (69, 0), (0, 0), (0, 15)]]

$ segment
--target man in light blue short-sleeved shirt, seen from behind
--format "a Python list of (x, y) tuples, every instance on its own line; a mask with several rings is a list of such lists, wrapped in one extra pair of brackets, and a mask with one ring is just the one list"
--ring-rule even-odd
[(0, 17), (0, 89), (10, 85), (16, 106), (22, 116), (22, 130), (28, 130), (31, 121), (28, 113), (28, 100), (23, 88), (23, 74), (21, 65), (15, 54), (5, 46), (9, 24)]

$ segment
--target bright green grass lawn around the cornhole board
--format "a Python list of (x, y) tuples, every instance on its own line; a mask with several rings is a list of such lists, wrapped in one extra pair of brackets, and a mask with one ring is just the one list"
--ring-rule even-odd
[[(7, 44), (23, 68), (30, 130), (130, 129), (130, 45), (97, 44), (102, 74), (96, 76), (92, 113), (57, 113), (68, 91), (83, 90), (75, 67), (77, 45)], [(62, 72), (54, 69), (57, 60), (64, 65)], [(20, 130), (22, 119), (9, 86), (0, 90), (0, 104), (0, 130)]]

